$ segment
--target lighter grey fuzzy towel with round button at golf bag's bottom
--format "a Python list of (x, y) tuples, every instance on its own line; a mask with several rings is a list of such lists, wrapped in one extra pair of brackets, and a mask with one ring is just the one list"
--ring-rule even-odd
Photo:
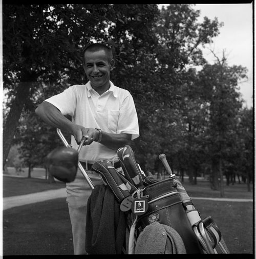
[(179, 233), (159, 222), (146, 226), (139, 234), (135, 254), (184, 254), (186, 249)]

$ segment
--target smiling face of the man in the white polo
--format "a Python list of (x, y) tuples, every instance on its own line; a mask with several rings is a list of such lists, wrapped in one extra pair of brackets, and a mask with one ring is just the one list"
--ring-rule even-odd
[(104, 50), (88, 50), (84, 53), (84, 63), (83, 68), (92, 87), (109, 88), (110, 71), (114, 68), (114, 60), (110, 61)]

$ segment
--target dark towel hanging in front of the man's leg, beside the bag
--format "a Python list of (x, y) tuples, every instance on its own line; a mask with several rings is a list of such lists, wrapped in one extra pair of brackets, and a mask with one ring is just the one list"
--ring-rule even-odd
[(109, 186), (96, 185), (87, 203), (86, 251), (121, 254), (126, 218)]

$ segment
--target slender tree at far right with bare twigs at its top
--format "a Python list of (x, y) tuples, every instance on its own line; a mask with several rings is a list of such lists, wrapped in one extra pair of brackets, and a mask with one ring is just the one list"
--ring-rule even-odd
[(232, 133), (239, 110), (242, 107), (237, 91), (239, 79), (246, 77), (246, 68), (229, 67), (223, 53), (214, 65), (205, 65), (199, 73), (203, 97), (209, 102), (209, 127), (207, 145), (212, 167), (212, 188), (220, 189), (224, 196), (223, 164), (232, 142)]

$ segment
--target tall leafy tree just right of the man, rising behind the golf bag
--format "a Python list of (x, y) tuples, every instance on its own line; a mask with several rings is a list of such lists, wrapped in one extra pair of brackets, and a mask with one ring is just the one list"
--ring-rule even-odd
[(204, 64), (199, 46), (218, 35), (221, 26), (217, 19), (205, 18), (198, 23), (199, 12), (192, 6), (169, 5), (162, 9), (154, 29), (157, 43), (152, 44), (150, 52), (142, 49), (143, 56), (127, 70), (133, 75), (127, 83), (133, 87), (140, 122), (141, 136), (135, 149), (145, 154), (141, 160), (151, 167), (155, 164), (152, 160), (163, 151), (169, 160), (174, 156), (176, 146), (172, 140), (181, 139), (174, 135), (180, 133), (174, 130), (175, 124), (185, 127), (185, 123), (177, 123), (177, 113), (185, 103), (184, 75), (188, 66)]

